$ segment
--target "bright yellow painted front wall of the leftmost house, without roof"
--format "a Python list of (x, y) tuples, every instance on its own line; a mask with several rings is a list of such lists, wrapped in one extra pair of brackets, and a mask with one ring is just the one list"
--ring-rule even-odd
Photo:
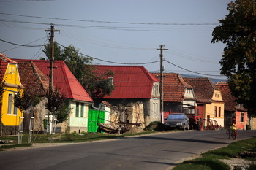
[(1, 122), (4, 125), (20, 125), (19, 120), (22, 117), (20, 109), (14, 106), (14, 97), (18, 90), (20, 77), (18, 74), (17, 64), (8, 63), (4, 74), (4, 92), (1, 106)]

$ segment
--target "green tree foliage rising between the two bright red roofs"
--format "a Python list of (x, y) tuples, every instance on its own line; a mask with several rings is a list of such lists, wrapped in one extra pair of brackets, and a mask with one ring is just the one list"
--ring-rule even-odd
[[(61, 47), (54, 42), (54, 60), (64, 61), (69, 70), (74, 74), (77, 80), (83, 85), (83, 88), (89, 93), (91, 98), (100, 98), (113, 91), (112, 82), (108, 77), (113, 77), (113, 73), (108, 71), (104, 74), (95, 74), (95, 67), (91, 65), (91, 58), (79, 55), (79, 49), (75, 49), (72, 45), (69, 47)], [(50, 58), (50, 44), (45, 45), (42, 50), (47, 58)], [(45, 58), (41, 58), (45, 59)]]

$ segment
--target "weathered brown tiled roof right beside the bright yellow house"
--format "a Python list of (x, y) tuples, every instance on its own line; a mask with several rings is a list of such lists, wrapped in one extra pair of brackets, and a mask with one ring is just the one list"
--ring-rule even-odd
[(32, 61), (16, 60), (18, 62), (18, 71), (20, 81), (29, 89), (31, 95), (44, 96), (48, 91), (49, 80)]

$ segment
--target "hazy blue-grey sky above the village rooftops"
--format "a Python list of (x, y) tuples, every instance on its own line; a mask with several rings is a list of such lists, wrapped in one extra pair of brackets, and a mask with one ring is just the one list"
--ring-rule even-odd
[[(0, 53), (9, 58), (45, 57), (54, 40), (74, 46), (94, 64), (144, 66), (217, 79), (225, 47), (212, 31), (228, 14), (231, 0), (0, 0)], [(21, 46), (23, 45), (23, 46)], [(35, 47), (34, 47), (35, 46)]]

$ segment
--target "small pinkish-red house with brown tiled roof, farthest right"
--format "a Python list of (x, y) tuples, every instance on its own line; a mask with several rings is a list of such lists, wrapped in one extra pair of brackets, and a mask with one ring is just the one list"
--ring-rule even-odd
[(217, 82), (216, 86), (221, 90), (222, 98), (225, 101), (225, 128), (232, 124), (232, 117), (234, 116), (236, 117), (236, 128), (246, 129), (246, 125), (249, 123), (247, 109), (243, 107), (243, 104), (236, 102), (236, 98), (232, 95), (227, 82)]

